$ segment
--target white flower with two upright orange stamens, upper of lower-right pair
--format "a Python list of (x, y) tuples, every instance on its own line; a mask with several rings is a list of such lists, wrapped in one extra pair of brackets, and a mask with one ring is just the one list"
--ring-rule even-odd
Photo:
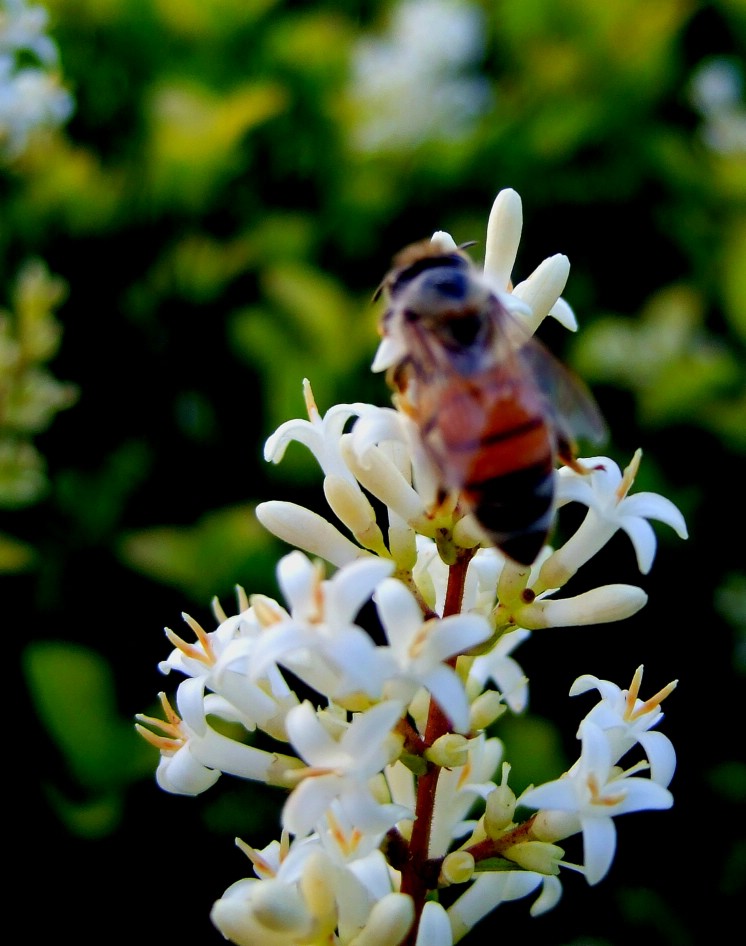
[(612, 762), (617, 762), (639, 743), (650, 762), (653, 781), (667, 787), (676, 768), (676, 752), (668, 736), (650, 730), (663, 719), (660, 704), (675, 688), (676, 681), (643, 702), (638, 697), (642, 669), (637, 668), (628, 690), (622, 690), (609, 680), (599, 680), (591, 674), (584, 674), (573, 683), (570, 695), (586, 693), (592, 688), (598, 690), (601, 701), (586, 719), (592, 720), (605, 731), (611, 747)]

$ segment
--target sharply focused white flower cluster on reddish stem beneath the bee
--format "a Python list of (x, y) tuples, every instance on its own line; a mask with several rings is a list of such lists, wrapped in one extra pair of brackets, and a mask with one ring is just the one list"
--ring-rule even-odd
[[(501, 192), (485, 273), (530, 330), (550, 314), (574, 328), (564, 256), (512, 285), (521, 225), (518, 195)], [(374, 368), (392, 345), (383, 338)], [(439, 495), (405, 412), (354, 403), (322, 416), (304, 385), (308, 418), (283, 424), (266, 457), (278, 462), (293, 441), (311, 450), (330, 519), (289, 502), (258, 507), (295, 547), (277, 567), (282, 600), (240, 590), (237, 615), (215, 604), (215, 630), (186, 615), (193, 641), (167, 630), (174, 649), (160, 669), (183, 677), (175, 708), (162, 694), (164, 719), (141, 716), (139, 729), (160, 749), (167, 791), (195, 795), (225, 773), (286, 793), (280, 839), (263, 850), (237, 842), (253, 876), (214, 905), (226, 938), (451, 946), (504, 901), (535, 894), (531, 913), (550, 909), (563, 869), (598, 883), (615, 817), (671, 806), (675, 754), (654, 727), (675, 684), (643, 699), (641, 667), (626, 690), (578, 678), (572, 695), (599, 696), (580, 723), (578, 758), (521, 795), (493, 724), (527, 705), (513, 653), (533, 633), (644, 606), (642, 589), (625, 584), (563, 594), (578, 570), (622, 530), (646, 573), (648, 520), (682, 538), (686, 526), (669, 500), (632, 492), (639, 452), (623, 472), (586, 458), (556, 476), (557, 506), (585, 506), (582, 523), (519, 565), (484, 543), (457, 498)], [(559, 843), (573, 835), (579, 864)]]

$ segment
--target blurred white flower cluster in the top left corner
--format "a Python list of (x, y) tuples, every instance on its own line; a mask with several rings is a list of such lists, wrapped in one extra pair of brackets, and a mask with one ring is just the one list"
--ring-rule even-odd
[(56, 127), (72, 114), (60, 82), (59, 52), (47, 35), (47, 11), (26, 0), (3, 0), (0, 10), (0, 154), (18, 157), (37, 128)]

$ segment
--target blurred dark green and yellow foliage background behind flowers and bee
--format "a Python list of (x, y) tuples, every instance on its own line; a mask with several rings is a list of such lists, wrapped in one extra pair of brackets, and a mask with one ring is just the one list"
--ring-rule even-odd
[[(48, 19), (23, 20), (24, 9)], [(502, 908), (470, 940), (664, 946), (746, 895), (744, 0), (48, 0), (0, 4), (0, 570), (11, 649), (9, 899), (32, 942), (209, 944), (212, 902), (276, 836), (281, 798), (155, 785), (133, 729), (173, 690), (186, 611), (276, 594), (261, 500), (323, 507), (302, 416), (385, 404), (371, 296), (406, 242), (482, 241), (523, 198), (515, 276), (571, 261), (620, 466), (670, 497), (652, 572), (615, 539), (578, 587), (642, 585), (619, 625), (518, 652), (516, 787), (574, 758), (580, 673), (669, 680), (675, 807), (618, 822), (607, 879)], [(15, 19), (14, 19), (15, 18)], [(23, 20), (18, 26), (19, 18)], [(14, 25), (15, 24), (15, 25)], [(16, 33), (13, 33), (13, 30)], [(20, 30), (20, 33), (18, 32)], [(23, 33), (23, 30), (26, 32)], [(474, 248), (477, 258), (480, 243)], [(582, 699), (582, 698), (580, 698)]]

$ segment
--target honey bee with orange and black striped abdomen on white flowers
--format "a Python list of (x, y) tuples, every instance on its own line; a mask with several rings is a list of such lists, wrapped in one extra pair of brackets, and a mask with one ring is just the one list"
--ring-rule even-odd
[[(468, 244), (465, 244), (468, 245)], [(406, 247), (381, 283), (387, 380), (439, 480), (488, 542), (531, 565), (554, 521), (558, 462), (587, 473), (576, 438), (600, 441), (590, 393), (520, 324), (464, 252)]]

